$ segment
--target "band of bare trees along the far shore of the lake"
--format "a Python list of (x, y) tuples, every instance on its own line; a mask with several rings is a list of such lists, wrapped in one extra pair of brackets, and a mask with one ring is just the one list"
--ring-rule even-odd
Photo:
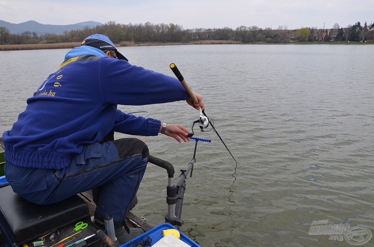
[[(189, 43), (206, 40), (230, 40), (241, 43), (286, 43), (296, 41), (363, 41), (374, 27), (360, 22), (341, 28), (335, 24), (332, 29), (318, 29), (317, 27), (302, 27), (288, 30), (287, 26), (278, 26), (277, 29), (258, 26), (239, 26), (236, 29), (224, 28), (194, 28), (183, 29), (178, 24), (118, 24), (109, 21), (94, 28), (85, 27), (63, 34), (38, 35), (36, 32), (25, 31), (22, 34), (11, 34), (5, 27), (0, 27), (0, 44), (53, 44), (82, 42), (91, 34), (107, 35), (114, 43), (133, 41), (135, 43)], [(371, 35), (373, 36), (373, 35)], [(371, 37), (373, 38), (373, 37)]]

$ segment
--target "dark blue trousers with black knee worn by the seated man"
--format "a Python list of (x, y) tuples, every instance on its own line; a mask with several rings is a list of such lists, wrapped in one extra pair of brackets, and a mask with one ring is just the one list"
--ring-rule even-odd
[(36, 204), (52, 204), (93, 190), (95, 218), (112, 215), (123, 222), (143, 178), (148, 147), (136, 138), (86, 145), (63, 169), (34, 169), (5, 163), (4, 172), (15, 193)]

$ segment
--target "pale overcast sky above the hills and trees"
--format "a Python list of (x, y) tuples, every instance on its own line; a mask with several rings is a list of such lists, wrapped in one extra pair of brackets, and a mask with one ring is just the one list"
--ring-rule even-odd
[(0, 0), (0, 19), (67, 25), (105, 23), (174, 23), (183, 28), (253, 26), (288, 29), (341, 27), (374, 21), (374, 0)]

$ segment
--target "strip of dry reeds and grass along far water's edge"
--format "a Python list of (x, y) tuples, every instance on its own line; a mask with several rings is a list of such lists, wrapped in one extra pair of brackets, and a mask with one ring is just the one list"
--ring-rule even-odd
[[(121, 42), (122, 43), (122, 42)], [(46, 49), (73, 49), (74, 47), (80, 46), (80, 42), (76, 43), (55, 43), (55, 44), (20, 44), (20, 45), (0, 45), (0, 51), (16, 51), (16, 50), (46, 50)], [(370, 45), (373, 42), (300, 42), (300, 41), (289, 41), (287, 43), (241, 43), (239, 41), (229, 41), (229, 40), (205, 40), (205, 41), (194, 41), (190, 43), (181, 42), (169, 42), (169, 43), (133, 43), (126, 42), (125, 45), (116, 44), (117, 47), (134, 47), (134, 46), (183, 46), (183, 45), (206, 45), (206, 44), (242, 44), (242, 45), (258, 45), (258, 44), (277, 44), (277, 45)]]

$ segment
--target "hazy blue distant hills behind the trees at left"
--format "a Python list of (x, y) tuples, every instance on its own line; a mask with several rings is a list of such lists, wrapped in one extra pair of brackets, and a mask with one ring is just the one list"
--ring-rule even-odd
[(25, 31), (31, 31), (36, 32), (39, 35), (43, 35), (46, 33), (50, 34), (62, 34), (62, 32), (70, 31), (70, 30), (76, 30), (76, 29), (83, 29), (85, 26), (88, 26), (89, 28), (93, 28), (97, 25), (102, 25), (100, 22), (95, 21), (86, 21), (86, 22), (80, 22), (76, 24), (71, 25), (48, 25), (48, 24), (40, 24), (36, 21), (27, 21), (22, 22), (19, 24), (14, 24), (11, 22), (6, 22), (0, 20), (0, 26), (5, 26), (12, 34), (22, 34), (22, 32)]

